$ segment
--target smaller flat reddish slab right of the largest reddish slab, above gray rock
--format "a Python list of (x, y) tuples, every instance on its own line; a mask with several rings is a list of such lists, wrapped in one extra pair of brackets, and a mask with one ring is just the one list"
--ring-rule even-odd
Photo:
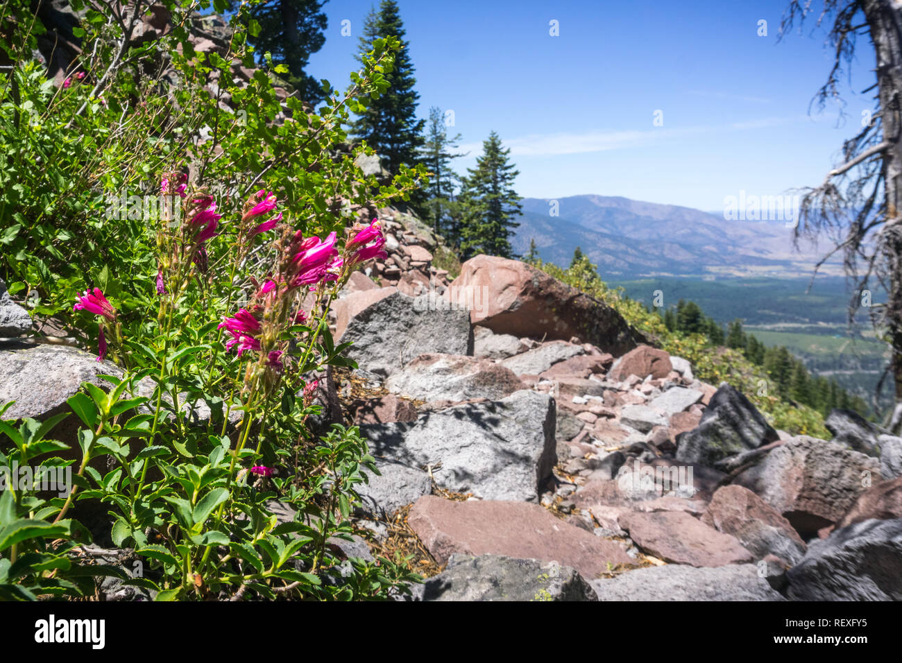
[(725, 566), (754, 559), (737, 539), (695, 520), (686, 511), (632, 512), (618, 522), (636, 545), (666, 562)]

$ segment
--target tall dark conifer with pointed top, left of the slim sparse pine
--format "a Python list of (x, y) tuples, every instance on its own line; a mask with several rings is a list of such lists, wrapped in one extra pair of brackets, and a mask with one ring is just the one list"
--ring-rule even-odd
[(361, 51), (370, 51), (376, 38), (389, 36), (400, 40), (401, 49), (395, 53), (393, 68), (385, 74), (389, 88), (379, 98), (370, 99), (363, 115), (351, 126), (354, 135), (364, 139), (379, 154), (392, 174), (398, 172), (401, 163), (412, 166), (419, 160), (426, 124), (425, 120), (416, 117), (419, 94), (413, 87), (417, 79), (413, 76), (410, 44), (404, 41), (404, 35), (398, 4), (394, 0), (382, 0), (378, 13), (372, 11), (366, 17), (360, 38)]

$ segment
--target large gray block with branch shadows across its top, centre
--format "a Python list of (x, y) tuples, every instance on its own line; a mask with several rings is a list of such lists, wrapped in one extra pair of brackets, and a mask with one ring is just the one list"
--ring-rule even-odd
[(487, 500), (538, 502), (556, 452), (555, 401), (538, 391), (360, 430), (373, 456), (410, 467), (441, 463), (437, 485)]

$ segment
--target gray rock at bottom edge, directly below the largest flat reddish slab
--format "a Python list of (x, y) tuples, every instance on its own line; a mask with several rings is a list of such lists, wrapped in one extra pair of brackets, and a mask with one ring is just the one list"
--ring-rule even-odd
[(595, 601), (574, 568), (502, 555), (453, 555), (415, 590), (417, 601)]

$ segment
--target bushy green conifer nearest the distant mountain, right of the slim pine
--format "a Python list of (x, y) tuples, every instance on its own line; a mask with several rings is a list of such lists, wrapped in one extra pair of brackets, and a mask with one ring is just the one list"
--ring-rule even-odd
[(476, 168), (467, 169), (459, 200), (461, 203), (461, 250), (464, 258), (476, 253), (512, 257), (511, 231), (520, 226), (520, 196), (513, 180), (520, 174), (508, 162), (511, 149), (502, 149), (495, 132), (483, 141), (483, 155)]

